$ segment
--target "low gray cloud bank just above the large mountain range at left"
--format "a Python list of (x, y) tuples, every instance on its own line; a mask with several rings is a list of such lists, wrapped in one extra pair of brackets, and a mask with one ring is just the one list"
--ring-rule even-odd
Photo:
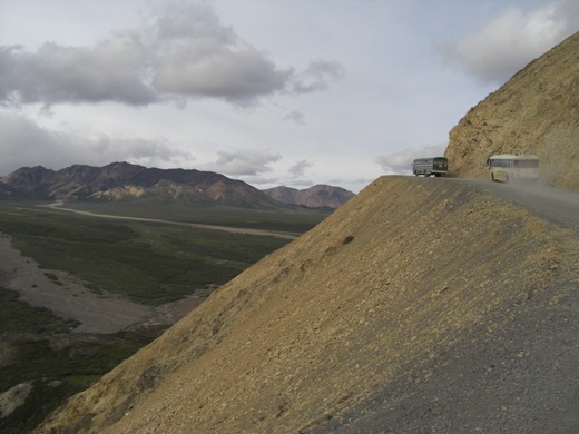
[(188, 158), (185, 152), (173, 149), (163, 140), (146, 140), (139, 137), (111, 139), (63, 134), (39, 127), (31, 119), (18, 114), (0, 112), (0, 176), (41, 161), (50, 169), (73, 164), (104, 166), (112, 161), (130, 161), (144, 166), (170, 158)]

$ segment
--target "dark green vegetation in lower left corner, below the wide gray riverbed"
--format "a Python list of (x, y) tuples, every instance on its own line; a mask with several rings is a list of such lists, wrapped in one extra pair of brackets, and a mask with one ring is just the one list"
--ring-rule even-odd
[(0, 392), (29, 381), (33, 387), (22, 406), (0, 418), (0, 432), (31, 432), (66, 398), (92, 385), (161, 332), (149, 328), (90, 338), (71, 334), (67, 345), (58, 349), (51, 347), (55, 337), (50, 336), (10, 342), (18, 362), (0, 367)]

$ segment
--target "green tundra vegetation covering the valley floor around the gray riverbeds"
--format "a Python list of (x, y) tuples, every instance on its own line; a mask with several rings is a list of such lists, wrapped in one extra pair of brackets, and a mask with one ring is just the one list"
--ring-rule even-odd
[[(68, 204), (67, 204), (68, 206)], [(76, 209), (245, 227), (300, 235), (325, 218), (327, 210), (256, 211), (181, 206), (73, 204)], [(207, 295), (252, 264), (290, 241), (288, 238), (207, 230), (163, 223), (105, 219), (40, 207), (32, 203), (0, 204), (0, 231), (12, 246), (46, 269), (67, 272), (96, 294), (111, 293), (150, 306), (178, 300), (196, 290)], [(0, 270), (0, 411), (9, 391), (32, 384), (23, 404), (0, 412), (0, 432), (31, 431), (56, 406), (122, 359), (168, 325), (130, 328), (115, 334), (73, 333), (78, 323), (19, 299), (2, 286)]]

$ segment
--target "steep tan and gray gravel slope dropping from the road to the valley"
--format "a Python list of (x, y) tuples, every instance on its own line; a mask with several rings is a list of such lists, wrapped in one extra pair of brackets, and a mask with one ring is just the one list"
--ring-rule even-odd
[(37, 431), (571, 432), (576, 239), (465, 183), (379, 178)]

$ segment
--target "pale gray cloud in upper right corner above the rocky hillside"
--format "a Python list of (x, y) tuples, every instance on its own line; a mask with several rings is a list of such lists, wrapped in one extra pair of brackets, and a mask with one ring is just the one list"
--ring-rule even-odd
[(481, 82), (502, 85), (578, 29), (579, 3), (551, 1), (531, 12), (507, 9), (478, 31), (439, 49)]

